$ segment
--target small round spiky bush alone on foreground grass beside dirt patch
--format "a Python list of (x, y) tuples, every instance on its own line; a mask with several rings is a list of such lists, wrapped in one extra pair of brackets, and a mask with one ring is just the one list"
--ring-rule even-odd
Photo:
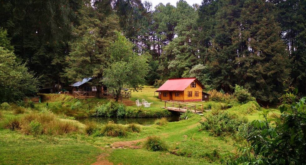
[(167, 146), (166, 143), (158, 136), (149, 136), (143, 147), (150, 151), (166, 151)]

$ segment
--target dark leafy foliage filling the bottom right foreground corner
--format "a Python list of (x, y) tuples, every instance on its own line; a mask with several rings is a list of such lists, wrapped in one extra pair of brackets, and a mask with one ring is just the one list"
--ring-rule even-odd
[(283, 102), (282, 113), (272, 125), (268, 120), (269, 111), (264, 110), (264, 121), (254, 120), (260, 135), (248, 137), (250, 145), (240, 147), (241, 156), (227, 164), (305, 164), (306, 160), (306, 97), (299, 102)]

